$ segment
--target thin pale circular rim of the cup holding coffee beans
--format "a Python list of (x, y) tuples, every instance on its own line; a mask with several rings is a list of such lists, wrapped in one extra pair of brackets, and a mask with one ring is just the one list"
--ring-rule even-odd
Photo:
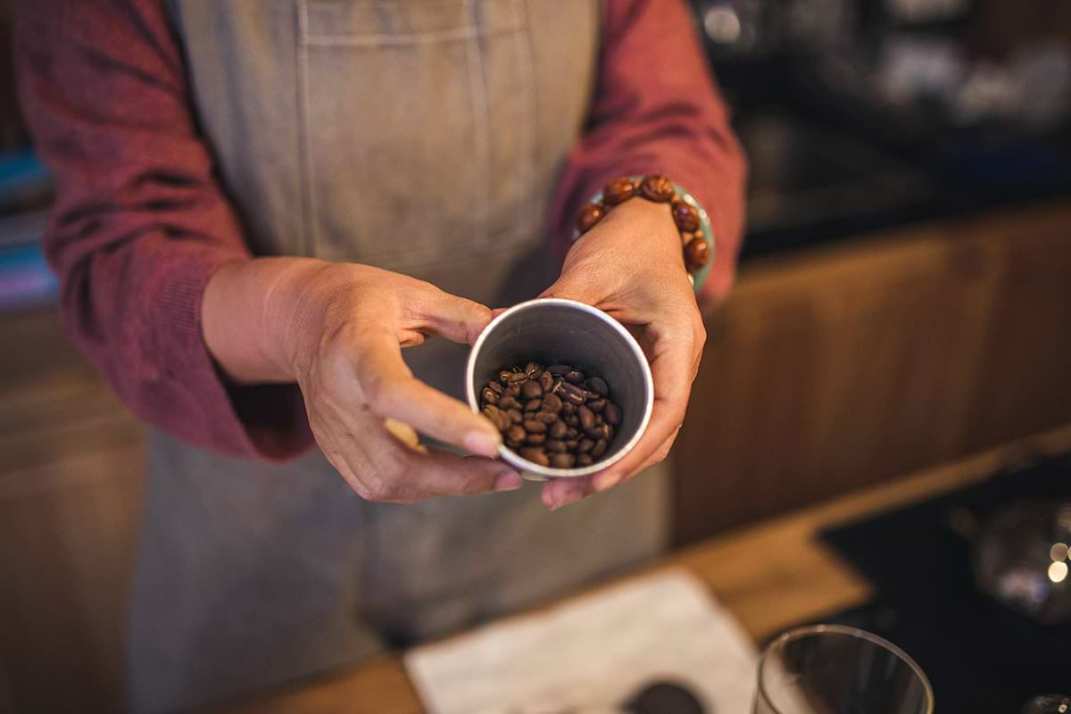
[(651, 377), (651, 366), (647, 362), (647, 355), (644, 354), (644, 350), (640, 349), (639, 343), (636, 338), (624, 329), (620, 322), (615, 318), (607, 315), (605, 312), (588, 305), (587, 303), (582, 303), (576, 300), (569, 300), (567, 298), (536, 298), (533, 300), (526, 300), (523, 303), (517, 303), (513, 307), (503, 310), (498, 317), (493, 319), (487, 323), (487, 326), (483, 329), (480, 336), (477, 337), (476, 341), (472, 343), (472, 349), (469, 350), (468, 362), (465, 367), (465, 396), (468, 398), (469, 407), (476, 413), (480, 413), (480, 404), (477, 398), (476, 390), (476, 359), (480, 353), (480, 348), (483, 346), (484, 340), (487, 335), (489, 335), (495, 328), (501, 324), (508, 317), (516, 315), (517, 313), (523, 313), (524, 310), (531, 309), (533, 307), (541, 307), (544, 305), (559, 305), (562, 307), (570, 307), (573, 309), (579, 309), (589, 315), (602, 320), (610, 326), (624, 341), (629, 345), (630, 350), (636, 358), (639, 364), (640, 373), (644, 377), (644, 394), (647, 398), (644, 400), (644, 414), (639, 420), (639, 427), (636, 432), (629, 439), (613, 456), (605, 458), (602, 461), (597, 461), (590, 466), (583, 466), (575, 469), (555, 469), (548, 466), (540, 466), (529, 461), (528, 459), (521, 456), (521, 454), (514, 452), (512, 449), (508, 447), (504, 443), (498, 446), (498, 454), (502, 457), (504, 461), (514, 466), (518, 469), (529, 471), (531, 473), (545, 476), (547, 478), (575, 478), (578, 476), (587, 476), (592, 473), (598, 473), (609, 468), (612, 465), (619, 461), (624, 457), (625, 454), (631, 452), (639, 439), (647, 431), (647, 425), (651, 421), (651, 411), (654, 408), (654, 379)]

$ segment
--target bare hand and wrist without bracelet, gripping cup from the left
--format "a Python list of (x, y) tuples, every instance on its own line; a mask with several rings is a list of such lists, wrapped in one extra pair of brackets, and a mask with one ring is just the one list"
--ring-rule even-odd
[[(259, 307), (257, 334), (226, 319), (243, 305), (247, 315)], [(483, 305), (366, 265), (265, 258), (217, 271), (202, 315), (209, 348), (231, 378), (298, 382), (316, 442), (362, 498), (409, 503), (521, 486), (516, 471), (484, 458), (501, 442), (494, 425), (417, 380), (402, 360), (403, 347), (431, 334), (471, 344), (491, 320)], [(414, 449), (387, 420), (480, 456)]]

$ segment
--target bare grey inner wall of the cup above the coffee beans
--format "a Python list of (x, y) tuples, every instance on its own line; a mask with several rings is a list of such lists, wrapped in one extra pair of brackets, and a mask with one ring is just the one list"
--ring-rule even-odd
[[(646, 361), (615, 326), (593, 308), (557, 301), (533, 302), (501, 316), (484, 336), (472, 368), (472, 404), (502, 369), (537, 362), (546, 367), (568, 364), (587, 377), (600, 377), (609, 386), (609, 399), (621, 409), (621, 424), (609, 449), (592, 467), (609, 460), (629, 445), (644, 426), (647, 399)], [(515, 452), (514, 452), (515, 453)], [(519, 454), (517, 457), (521, 458)], [(526, 461), (527, 462), (527, 461)], [(533, 465), (534, 466), (534, 465)], [(576, 471), (577, 469), (546, 471)]]

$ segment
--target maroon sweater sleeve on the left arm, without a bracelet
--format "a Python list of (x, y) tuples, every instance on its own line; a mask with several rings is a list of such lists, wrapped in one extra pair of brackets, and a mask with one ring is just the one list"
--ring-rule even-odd
[(201, 336), (209, 278), (250, 253), (160, 0), (24, 0), (16, 67), (57, 181), (43, 244), (72, 340), (135, 413), (183, 440), (267, 458), (307, 446), (297, 388), (228, 389)]

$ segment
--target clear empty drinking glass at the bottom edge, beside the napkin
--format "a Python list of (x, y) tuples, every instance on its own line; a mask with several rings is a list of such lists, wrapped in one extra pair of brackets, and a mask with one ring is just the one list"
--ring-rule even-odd
[(933, 714), (930, 681), (877, 635), (840, 625), (781, 635), (758, 660), (754, 714)]

